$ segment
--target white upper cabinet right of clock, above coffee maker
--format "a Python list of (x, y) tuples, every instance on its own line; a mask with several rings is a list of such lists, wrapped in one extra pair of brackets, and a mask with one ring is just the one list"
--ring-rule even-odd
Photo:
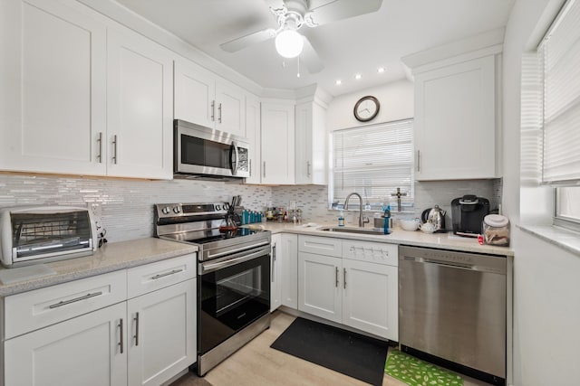
[(495, 65), (489, 55), (415, 77), (417, 180), (497, 176)]

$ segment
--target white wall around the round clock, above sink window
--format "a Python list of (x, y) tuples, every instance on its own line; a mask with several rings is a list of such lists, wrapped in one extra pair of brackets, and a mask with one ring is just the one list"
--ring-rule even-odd
[[(371, 122), (362, 123), (354, 118), (353, 108), (356, 101), (366, 95), (379, 99), (381, 109)], [(398, 80), (334, 98), (326, 113), (326, 127), (328, 131), (333, 131), (413, 118), (413, 116), (413, 83), (410, 80)]]

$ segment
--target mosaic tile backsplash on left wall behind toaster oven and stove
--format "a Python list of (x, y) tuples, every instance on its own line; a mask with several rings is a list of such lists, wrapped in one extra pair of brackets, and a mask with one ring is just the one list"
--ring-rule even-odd
[(272, 188), (238, 183), (172, 180), (145, 181), (89, 177), (0, 174), (0, 208), (20, 205), (102, 207), (109, 241), (153, 236), (153, 204), (159, 202), (231, 202), (240, 194), (248, 209), (262, 210)]

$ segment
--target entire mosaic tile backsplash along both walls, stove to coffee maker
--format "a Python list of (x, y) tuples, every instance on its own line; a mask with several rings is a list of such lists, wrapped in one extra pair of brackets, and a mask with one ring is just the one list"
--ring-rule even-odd
[[(415, 184), (415, 216), (435, 203), (450, 210), (450, 202), (463, 194), (486, 197), (495, 209), (501, 202), (501, 180), (422, 182)], [(78, 176), (0, 174), (0, 208), (16, 205), (101, 205), (102, 226), (107, 240), (121, 241), (153, 236), (153, 204), (159, 202), (231, 202), (242, 196), (249, 210), (264, 211), (268, 203), (303, 211), (304, 221), (333, 222), (338, 213), (329, 211), (328, 188), (318, 185), (261, 186), (230, 182), (172, 180), (121, 180)], [(354, 224), (356, 213), (347, 213)], [(397, 213), (393, 212), (396, 218)], [(448, 217), (450, 216), (450, 211)], [(450, 217), (448, 219), (450, 224)]]

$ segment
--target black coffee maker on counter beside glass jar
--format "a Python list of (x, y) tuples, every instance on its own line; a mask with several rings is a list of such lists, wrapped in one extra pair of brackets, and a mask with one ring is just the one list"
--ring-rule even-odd
[(453, 233), (459, 236), (478, 237), (481, 221), (489, 214), (489, 200), (466, 194), (451, 201)]

